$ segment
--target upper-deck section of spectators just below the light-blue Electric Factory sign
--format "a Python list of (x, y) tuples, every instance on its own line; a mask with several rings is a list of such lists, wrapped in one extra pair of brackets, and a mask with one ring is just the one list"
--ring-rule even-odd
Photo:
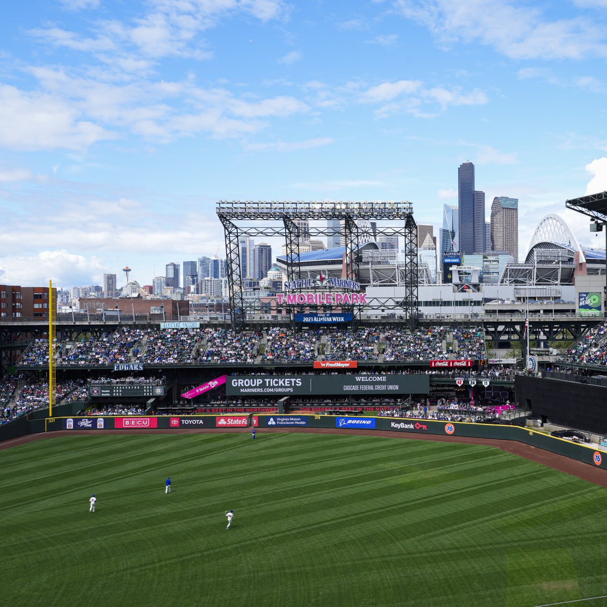
[(134, 361), (156, 365), (184, 365), (200, 361), (198, 329), (163, 329), (146, 331), (144, 350), (135, 353)]

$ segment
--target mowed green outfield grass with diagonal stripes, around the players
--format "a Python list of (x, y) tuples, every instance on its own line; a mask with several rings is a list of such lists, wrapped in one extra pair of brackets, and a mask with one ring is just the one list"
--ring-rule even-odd
[(95, 434), (1, 451), (0, 479), (7, 607), (531, 607), (607, 594), (607, 490), (492, 447)]

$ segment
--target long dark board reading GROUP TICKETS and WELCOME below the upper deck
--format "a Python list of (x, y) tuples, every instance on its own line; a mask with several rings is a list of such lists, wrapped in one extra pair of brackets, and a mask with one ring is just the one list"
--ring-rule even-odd
[(428, 375), (231, 375), (227, 396), (429, 394)]

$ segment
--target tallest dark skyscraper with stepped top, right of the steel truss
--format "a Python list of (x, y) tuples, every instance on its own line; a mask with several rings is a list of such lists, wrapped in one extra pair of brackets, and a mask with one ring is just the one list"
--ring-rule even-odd
[(485, 193), (474, 189), (474, 164), (458, 169), (459, 252), (483, 253), (485, 240)]

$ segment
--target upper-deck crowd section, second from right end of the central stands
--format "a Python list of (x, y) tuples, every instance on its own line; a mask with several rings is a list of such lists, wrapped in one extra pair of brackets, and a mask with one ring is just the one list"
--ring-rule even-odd
[(428, 361), (447, 358), (443, 342), (447, 331), (444, 327), (428, 327), (410, 333), (404, 328), (385, 331), (384, 361)]

